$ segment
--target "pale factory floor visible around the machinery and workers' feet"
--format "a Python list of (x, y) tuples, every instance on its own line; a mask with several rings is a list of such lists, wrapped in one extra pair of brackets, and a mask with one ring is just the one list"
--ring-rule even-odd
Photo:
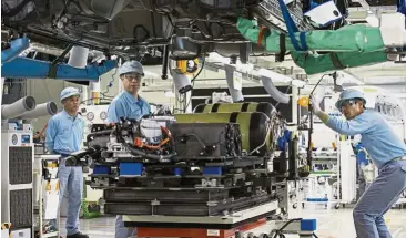
[[(290, 217), (317, 219), (317, 231), (315, 234), (319, 238), (355, 238), (352, 210), (351, 208), (324, 209), (323, 206), (312, 205), (306, 206), (304, 209), (290, 211)], [(393, 238), (406, 237), (406, 209), (392, 209), (386, 214), (385, 219)], [(64, 227), (64, 223), (65, 219), (62, 218), (61, 227)], [(115, 217), (81, 219), (80, 223), (82, 232), (88, 234), (90, 238), (114, 238)], [(65, 230), (62, 229), (61, 232), (64, 237)]]

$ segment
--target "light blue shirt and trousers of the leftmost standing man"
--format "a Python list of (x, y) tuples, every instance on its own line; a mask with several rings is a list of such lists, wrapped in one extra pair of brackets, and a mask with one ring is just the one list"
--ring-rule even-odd
[(79, 232), (79, 213), (82, 203), (83, 175), (82, 167), (67, 167), (63, 157), (80, 149), (84, 132), (84, 121), (80, 116), (71, 116), (65, 111), (53, 115), (48, 121), (45, 146), (54, 154), (61, 154), (58, 168), (60, 179), (59, 206), (68, 189), (67, 235)]

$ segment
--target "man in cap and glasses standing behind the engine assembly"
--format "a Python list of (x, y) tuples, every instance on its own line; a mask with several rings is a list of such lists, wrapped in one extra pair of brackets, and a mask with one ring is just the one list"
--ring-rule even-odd
[[(120, 122), (121, 118), (140, 120), (143, 115), (151, 114), (150, 104), (139, 95), (141, 80), (144, 76), (144, 70), (141, 63), (138, 61), (128, 61), (118, 71), (124, 91), (109, 106), (109, 123)], [(123, 217), (116, 216), (115, 238), (133, 236), (135, 236), (135, 229), (125, 228)]]

